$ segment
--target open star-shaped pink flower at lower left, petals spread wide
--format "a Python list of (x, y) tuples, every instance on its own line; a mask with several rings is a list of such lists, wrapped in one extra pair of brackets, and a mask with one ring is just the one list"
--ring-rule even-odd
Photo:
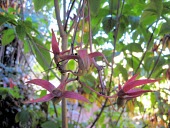
[(55, 101), (57, 100), (59, 102), (61, 101), (62, 98), (71, 98), (71, 99), (81, 100), (84, 102), (89, 102), (85, 97), (83, 97), (78, 93), (72, 91), (65, 91), (65, 86), (69, 82), (70, 81), (63, 80), (60, 83), (60, 85), (56, 88), (53, 84), (51, 84), (47, 80), (34, 79), (34, 80), (27, 81), (27, 83), (36, 84), (43, 87), (44, 89), (48, 90), (50, 93), (38, 99), (25, 101), (24, 103), (46, 102), (49, 100), (55, 100)]

